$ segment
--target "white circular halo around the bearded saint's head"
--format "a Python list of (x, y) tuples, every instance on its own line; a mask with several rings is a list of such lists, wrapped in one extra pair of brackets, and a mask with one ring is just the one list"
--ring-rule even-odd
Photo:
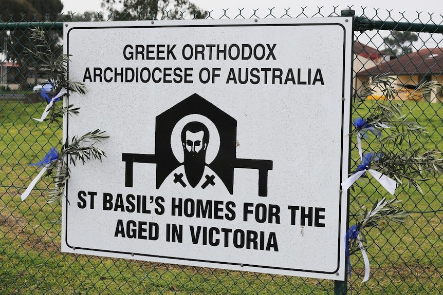
[(209, 130), (209, 143), (208, 148), (206, 149), (206, 164), (211, 164), (214, 161), (215, 157), (218, 154), (218, 150), (220, 148), (220, 134), (218, 133), (217, 127), (215, 127), (214, 123), (209, 120), (204, 115), (200, 114), (190, 114), (182, 117), (177, 124), (175, 124), (174, 128), (171, 132), (171, 149), (174, 153), (175, 158), (178, 162), (183, 163), (184, 154), (183, 154), (183, 146), (181, 145), (181, 130), (183, 130), (184, 125), (189, 122), (200, 122), (205, 124)]

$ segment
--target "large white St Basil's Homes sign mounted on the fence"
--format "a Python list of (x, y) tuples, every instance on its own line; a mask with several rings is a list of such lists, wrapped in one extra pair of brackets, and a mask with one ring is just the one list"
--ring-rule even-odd
[[(343, 280), (350, 18), (67, 23), (62, 250)], [(66, 102), (65, 102), (66, 103)]]

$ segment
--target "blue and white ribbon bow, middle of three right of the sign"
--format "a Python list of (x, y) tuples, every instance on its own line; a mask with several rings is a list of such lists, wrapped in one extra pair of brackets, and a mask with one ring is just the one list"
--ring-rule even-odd
[(380, 161), (381, 157), (382, 154), (379, 153), (364, 153), (362, 155), (361, 163), (358, 165), (355, 173), (341, 183), (342, 188), (347, 190), (360, 178), (361, 175), (364, 174), (364, 172), (368, 171), (387, 191), (394, 194), (395, 189), (397, 188), (397, 182), (386, 175), (369, 168), (371, 161)]

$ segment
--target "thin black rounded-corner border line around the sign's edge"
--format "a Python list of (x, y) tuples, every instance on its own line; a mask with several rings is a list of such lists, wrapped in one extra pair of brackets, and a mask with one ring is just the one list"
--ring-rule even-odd
[[(343, 29), (343, 71), (342, 71), (342, 98), (344, 98), (344, 94), (345, 94), (345, 66), (346, 66), (346, 28), (340, 24), (340, 23), (314, 23), (314, 24), (310, 24), (310, 23), (297, 23), (297, 24), (220, 24), (220, 25), (207, 25), (207, 24), (202, 24), (202, 25), (163, 25), (163, 26), (158, 26), (158, 25), (152, 25), (152, 26), (137, 26), (136, 22), (134, 22), (134, 25), (132, 26), (98, 26), (98, 27), (74, 27), (74, 28), (70, 28), (68, 29), (67, 32), (67, 40), (66, 40), (66, 47), (67, 47), (67, 51), (66, 53), (69, 55), (69, 33), (72, 30), (77, 30), (77, 29), (152, 29), (152, 28), (179, 28), (179, 27), (187, 27), (187, 28), (201, 28), (201, 27), (287, 27), (287, 26), (340, 26)], [(350, 46), (352, 47), (352, 44), (350, 44)], [(349, 56), (349, 58), (351, 58)], [(68, 68), (69, 68), (69, 61), (68, 61)], [(67, 73), (67, 78), (69, 79), (69, 72)], [(350, 77), (349, 77), (350, 78)], [(68, 127), (69, 127), (69, 116), (66, 116), (66, 134), (68, 134)], [(340, 159), (340, 183), (338, 184), (338, 191), (339, 191), (339, 220), (338, 220), (338, 247), (337, 247), (337, 252), (338, 252), (338, 258), (337, 258), (337, 268), (334, 271), (318, 271), (318, 270), (309, 270), (309, 269), (299, 269), (299, 268), (287, 268), (287, 267), (275, 267), (275, 266), (265, 266), (265, 265), (255, 265), (255, 264), (245, 264), (243, 262), (241, 263), (232, 263), (232, 262), (222, 262), (222, 261), (213, 261), (213, 260), (201, 260), (201, 259), (189, 259), (189, 258), (180, 258), (180, 257), (169, 257), (169, 256), (163, 256), (163, 255), (152, 255), (152, 254), (145, 254), (145, 253), (134, 253), (134, 252), (125, 252), (125, 251), (115, 251), (115, 250), (105, 250), (105, 249), (91, 249), (91, 248), (84, 248), (84, 247), (76, 247), (76, 246), (70, 246), (68, 244), (67, 241), (67, 233), (68, 233), (68, 227), (67, 227), (67, 216), (68, 216), (68, 202), (66, 203), (66, 210), (65, 210), (65, 214), (66, 214), (66, 221), (65, 221), (65, 243), (66, 245), (73, 249), (73, 250), (77, 250), (77, 249), (81, 249), (81, 250), (88, 250), (88, 251), (97, 251), (97, 252), (102, 252), (102, 253), (116, 253), (116, 254), (127, 254), (130, 255), (130, 257), (128, 258), (132, 258), (134, 259), (134, 255), (138, 255), (138, 256), (142, 256), (142, 257), (152, 257), (152, 258), (162, 258), (162, 259), (171, 259), (171, 260), (175, 260), (177, 262), (177, 264), (183, 261), (195, 261), (195, 262), (203, 262), (203, 263), (213, 263), (213, 264), (218, 264), (220, 266), (220, 268), (222, 268), (223, 265), (236, 265), (236, 266), (249, 266), (249, 267), (257, 267), (257, 268), (263, 268), (263, 269), (280, 269), (280, 270), (289, 270), (289, 271), (300, 271), (300, 272), (309, 272), (309, 273), (324, 273), (324, 274), (334, 274), (336, 273), (339, 269), (340, 269), (340, 247), (342, 245), (342, 242), (344, 242), (344, 240), (341, 237), (341, 232), (340, 232), (340, 227), (341, 227), (341, 223), (343, 222), (342, 220), (342, 212), (341, 212), (341, 206), (342, 206), (342, 196), (343, 193), (341, 191), (341, 183), (342, 183), (342, 172), (343, 172), (343, 131), (344, 131), (344, 100), (342, 100), (342, 120), (341, 120), (341, 130), (342, 130), (342, 137), (341, 137), (341, 159)], [(66, 162), (67, 163), (67, 162)], [(347, 167), (346, 167), (347, 168)], [(66, 193), (66, 199), (68, 200), (68, 185), (69, 183), (66, 183), (66, 189), (65, 189), (65, 193)], [(347, 196), (347, 194), (345, 193), (345, 196)], [(346, 199), (347, 200), (347, 199)], [(98, 253), (99, 254), (99, 253)]]

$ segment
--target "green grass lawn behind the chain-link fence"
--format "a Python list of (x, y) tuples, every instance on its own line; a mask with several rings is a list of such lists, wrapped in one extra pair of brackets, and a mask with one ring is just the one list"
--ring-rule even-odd
[[(34, 191), (25, 202), (19, 196), (38, 170), (28, 164), (60, 144), (60, 125), (29, 120), (44, 107), (0, 102), (0, 294), (333, 293), (334, 282), (329, 280), (62, 253), (61, 206), (46, 204), (47, 184), (39, 183), (40, 192)], [(443, 107), (426, 102), (407, 102), (406, 107), (431, 132), (424, 147), (443, 150)], [(365, 116), (365, 109), (358, 112)], [(358, 159), (355, 149), (352, 158)], [(351, 200), (374, 203), (385, 195), (376, 181), (359, 184)], [(437, 295), (443, 289), (443, 211), (439, 211), (443, 179), (423, 183), (422, 188), (422, 195), (412, 188), (399, 191), (404, 209), (415, 212), (404, 224), (383, 224), (382, 231), (367, 233), (371, 261), (367, 283), (360, 283), (364, 271), (360, 253), (352, 256), (349, 282), (356, 294)]]

